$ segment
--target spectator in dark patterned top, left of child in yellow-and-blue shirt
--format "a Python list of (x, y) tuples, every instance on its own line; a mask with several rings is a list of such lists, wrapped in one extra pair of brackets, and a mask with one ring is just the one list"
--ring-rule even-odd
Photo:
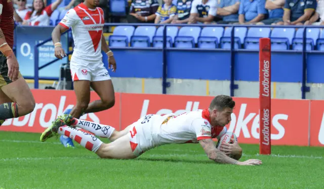
[(157, 0), (133, 0), (127, 21), (128, 23), (154, 23), (158, 7)]

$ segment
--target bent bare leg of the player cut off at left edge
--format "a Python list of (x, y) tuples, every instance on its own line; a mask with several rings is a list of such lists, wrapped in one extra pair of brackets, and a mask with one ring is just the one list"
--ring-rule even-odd
[[(35, 100), (25, 81), (20, 76), (16, 81), (1, 87), (0, 123), (6, 119), (27, 115), (34, 110)], [(8, 102), (10, 101), (10, 102)]]

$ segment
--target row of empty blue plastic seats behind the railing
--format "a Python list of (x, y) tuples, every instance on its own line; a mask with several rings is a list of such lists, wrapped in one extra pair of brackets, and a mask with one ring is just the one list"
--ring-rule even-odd
[[(117, 26), (109, 36), (113, 47), (163, 47), (163, 29), (156, 26)], [(167, 26), (167, 47), (230, 49), (232, 27)], [(304, 28), (235, 27), (234, 49), (259, 49), (259, 38), (271, 38), (272, 50), (302, 50)], [(324, 51), (324, 32), (306, 29), (306, 50)]]

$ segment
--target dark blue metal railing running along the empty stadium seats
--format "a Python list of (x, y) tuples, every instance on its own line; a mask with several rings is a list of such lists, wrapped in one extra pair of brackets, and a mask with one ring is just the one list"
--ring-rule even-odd
[[(150, 47), (149, 49), (158, 49), (162, 51), (163, 54), (163, 73), (162, 73), (162, 80), (163, 80), (163, 91), (162, 93), (167, 93), (167, 87), (170, 86), (170, 83), (167, 82), (167, 68), (168, 68), (168, 59), (167, 59), (167, 51), (170, 48), (167, 48), (167, 40), (166, 40), (166, 34), (167, 34), (167, 30), (166, 30), (166, 26), (188, 26), (187, 24), (128, 24), (128, 23), (105, 23), (105, 26), (125, 26), (125, 25), (132, 25), (132, 26), (164, 26), (164, 32), (163, 32), (163, 48), (162, 49), (158, 49), (158, 48), (152, 48)], [(205, 24), (195, 24), (194, 26), (199, 26), (199, 27), (264, 27), (264, 28), (274, 28), (274, 27), (281, 27), (281, 28), (304, 28), (303, 31), (303, 48), (302, 51), (295, 51), (298, 53), (302, 53), (302, 99), (305, 99), (305, 94), (307, 91), (309, 91), (309, 87), (306, 86), (306, 64), (307, 64), (307, 57), (306, 57), (306, 28), (324, 28), (324, 26), (269, 26), (269, 25), (225, 25), (225, 24), (217, 24), (217, 25), (205, 25)], [(248, 52), (256, 52), (258, 50), (236, 50), (234, 49), (234, 29), (231, 30), (231, 37), (230, 37), (230, 41), (231, 41), (231, 48), (229, 49), (230, 51), (230, 96), (234, 96), (234, 90), (238, 88), (238, 86), (236, 84), (234, 84), (234, 66), (235, 66), (235, 56), (234, 53), (235, 52), (239, 52), (239, 51), (248, 51)], [(37, 48), (39, 46), (41, 46), (42, 44), (44, 44), (45, 42), (51, 41), (51, 38), (49, 38), (48, 40), (39, 43), (35, 46), (35, 52), (37, 52)], [(133, 47), (125, 47), (125, 48), (113, 48), (110, 47), (110, 49), (114, 50), (114, 49), (130, 49), (130, 50), (143, 50), (143, 48), (133, 48)], [(147, 49), (147, 48), (144, 48)], [(172, 49), (172, 48), (171, 48)], [(173, 50), (183, 50), (183, 51), (219, 51), (219, 49), (213, 49), (213, 50), (206, 50), (206, 49), (175, 49), (173, 48)], [(225, 50), (224, 50), (225, 51)], [(276, 52), (276, 51), (272, 51), (272, 52)], [(277, 51), (277, 52), (282, 52), (282, 51)], [(292, 52), (292, 50), (290, 51)], [(294, 51), (293, 51), (294, 52)], [(71, 53), (71, 52), (69, 52)], [(35, 55), (37, 55), (35, 53)], [(59, 59), (56, 59), (54, 61), (49, 62), (46, 65), (43, 65), (42, 67), (38, 67), (38, 56), (35, 56), (34, 59), (34, 63), (35, 63), (35, 88), (38, 88), (38, 70), (42, 69), (54, 62), (56, 62)], [(103, 59), (105, 65), (107, 65), (107, 60), (104, 58)]]

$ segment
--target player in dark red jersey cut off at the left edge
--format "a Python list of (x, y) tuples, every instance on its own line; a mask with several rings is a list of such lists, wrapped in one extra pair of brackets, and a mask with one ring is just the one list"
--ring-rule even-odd
[(19, 72), (12, 50), (14, 27), (13, 2), (0, 0), (0, 125), (6, 119), (29, 114), (35, 107), (35, 100)]

